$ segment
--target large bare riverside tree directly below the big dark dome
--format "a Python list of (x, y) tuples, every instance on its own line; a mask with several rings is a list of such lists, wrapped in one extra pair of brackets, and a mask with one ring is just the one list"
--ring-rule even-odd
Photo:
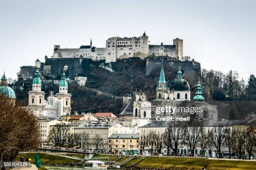
[(180, 122), (171, 122), (164, 132), (164, 145), (167, 149), (167, 154), (169, 155), (169, 149), (174, 151), (177, 155), (178, 148), (182, 144), (182, 126)]

